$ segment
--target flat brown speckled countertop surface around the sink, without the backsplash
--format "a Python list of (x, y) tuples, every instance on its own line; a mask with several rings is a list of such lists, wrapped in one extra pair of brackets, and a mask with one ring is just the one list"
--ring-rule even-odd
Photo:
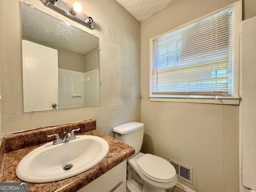
[[(72, 126), (72, 128), (74, 128), (74, 126)], [(95, 121), (95, 128), (96, 128), (96, 121)], [(46, 132), (48, 132), (49, 129), (46, 128), (45, 130)], [(22, 134), (24, 135), (24, 133)], [(73, 176), (71, 178), (67, 178), (57, 182), (42, 183), (42, 184), (29, 183), (29, 192), (38, 192), (38, 191), (76, 192), (135, 153), (135, 149), (133, 147), (127, 144), (124, 144), (123, 142), (116, 140), (106, 134), (103, 134), (98, 130), (90, 130), (90, 131), (82, 132), (80, 133), (80, 135), (94, 135), (94, 136), (99, 136), (105, 139), (109, 144), (109, 152), (107, 156), (100, 163), (96, 164), (96, 166), (92, 167), (91, 169), (81, 174)], [(21, 148), (21, 149), (19, 149), (20, 146), (24, 146), (24, 144), (18, 144), (14, 147), (12, 146), (12, 148), (17, 148), (17, 146), (19, 146), (18, 150), (12, 151), (10, 150), (10, 145), (8, 145), (7, 141), (8, 141), (8, 137), (5, 141), (6, 142), (5, 150), (6, 151), (9, 150), (11, 152), (4, 154), (4, 158), (2, 161), (0, 182), (22, 182), (16, 177), (16, 174), (15, 174), (15, 170), (18, 162), (20, 162), (20, 160), (26, 154), (28, 154), (35, 148), (41, 146), (42, 144), (31, 146), (28, 148)], [(2, 150), (0, 149), (0, 151)]]

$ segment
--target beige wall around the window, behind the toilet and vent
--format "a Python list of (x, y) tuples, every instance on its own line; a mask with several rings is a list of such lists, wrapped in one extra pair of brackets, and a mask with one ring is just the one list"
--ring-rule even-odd
[(150, 102), (149, 39), (234, 2), (179, 0), (141, 23), (142, 150), (194, 168), (179, 182), (196, 192), (239, 191), (239, 106)]

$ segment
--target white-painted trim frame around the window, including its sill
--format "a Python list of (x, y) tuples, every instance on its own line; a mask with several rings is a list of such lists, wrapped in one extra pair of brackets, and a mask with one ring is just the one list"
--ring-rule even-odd
[[(168, 34), (170, 32), (179, 30), (188, 26), (194, 22), (207, 18), (213, 14), (226, 10), (228, 8), (233, 8), (234, 10), (234, 65), (233, 65), (233, 95), (232, 97), (214, 97), (214, 96), (156, 96), (152, 95), (152, 41), (160, 36)], [(233, 4), (230, 4), (224, 8), (221, 8), (215, 12), (207, 14), (206, 16), (200, 17), (196, 20), (188, 22), (180, 27), (174, 28), (168, 32), (160, 34), (154, 38), (150, 38), (150, 71), (149, 71), (149, 98), (150, 101), (159, 101), (159, 102), (190, 102), (190, 103), (206, 103), (206, 104), (230, 104), (230, 105), (239, 105), (240, 97), (239, 97), (239, 70), (240, 70), (240, 33), (241, 33), (241, 22), (242, 22), (242, 0), (239, 0)]]

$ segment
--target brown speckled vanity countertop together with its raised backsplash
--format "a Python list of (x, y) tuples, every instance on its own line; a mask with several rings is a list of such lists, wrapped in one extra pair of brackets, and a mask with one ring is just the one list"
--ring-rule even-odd
[[(43, 191), (43, 192), (76, 192), (82, 187), (86, 186), (108, 170), (114, 168), (116, 165), (120, 164), (130, 156), (132, 156), (135, 153), (134, 148), (131, 146), (124, 144), (123, 142), (120, 142), (119, 140), (116, 140), (106, 134), (103, 134), (102, 132), (95, 130), (96, 129), (96, 121), (94, 119), (91, 120), (86, 120), (79, 122), (80, 124), (77, 125), (76, 123), (68, 124), (70, 126), (70, 129), (77, 128), (79, 126), (85, 127), (85, 129), (80, 130), (82, 133), (80, 135), (94, 135), (94, 136), (99, 136), (101, 138), (104, 138), (108, 144), (109, 144), (109, 152), (107, 156), (96, 166), (92, 167), (91, 169), (87, 170), (86, 172), (83, 172), (81, 174), (78, 174), (76, 176), (73, 176), (71, 178), (67, 178), (64, 180), (60, 180), (57, 182), (50, 182), (50, 183), (29, 183), (29, 191), (30, 192), (38, 192), (38, 191)], [(88, 123), (90, 126), (88, 126)], [(74, 125), (76, 124), (76, 125)], [(67, 124), (65, 124), (67, 125)], [(63, 125), (61, 125), (63, 126)], [(30, 136), (30, 133), (32, 135), (37, 132), (43, 130), (43, 135), (44, 134), (50, 134), (50, 132), (54, 132), (56, 129), (58, 130), (60, 126), (54, 126), (54, 127), (48, 127), (48, 128), (40, 128), (37, 130), (32, 130), (28, 132), (22, 132), (18, 133), (21, 134), (21, 137), (24, 136)], [(68, 129), (67, 126), (64, 126), (64, 129)], [(49, 131), (50, 130), (50, 131)], [(88, 131), (86, 131), (88, 130)], [(57, 132), (54, 133), (58, 133)], [(17, 139), (20, 139), (17, 134), (11, 134), (8, 136), (5, 136), (5, 140), (2, 141), (2, 145), (5, 145), (5, 151), (7, 153), (4, 154), (3, 158), (3, 164), (2, 164), (2, 170), (1, 170), (1, 178), (0, 182), (22, 182), (16, 177), (15, 174), (15, 169), (20, 162), (20, 160), (29, 152), (34, 150), (35, 148), (41, 146), (43, 144), (42, 140), (38, 140), (37, 138), (34, 139), (33, 144), (38, 144), (36, 146), (29, 146), (31, 144), (28, 144), (28, 142), (24, 141), (26, 144), (23, 143), (14, 143), (15, 139), (13, 137), (16, 137)], [(27, 138), (28, 140), (30, 138)], [(11, 144), (8, 143), (11, 140)], [(1, 146), (2, 146), (1, 145)], [(12, 147), (10, 147), (12, 146)], [(21, 146), (27, 146), (27, 148), (21, 148)], [(2, 147), (1, 147), (2, 148)], [(1, 158), (1, 148), (0, 148), (0, 158)], [(20, 149), (21, 148), (21, 149)], [(13, 150), (17, 149), (17, 150)], [(1, 159), (0, 159), (1, 161)]]

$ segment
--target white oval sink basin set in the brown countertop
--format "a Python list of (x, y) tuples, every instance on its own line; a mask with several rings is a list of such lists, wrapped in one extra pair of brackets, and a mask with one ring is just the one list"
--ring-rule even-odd
[[(106, 140), (90, 135), (76, 136), (75, 140), (57, 145), (49, 142), (22, 158), (16, 168), (16, 176), (32, 183), (70, 178), (102, 161), (108, 150)], [(64, 170), (65, 166), (69, 169)]]

